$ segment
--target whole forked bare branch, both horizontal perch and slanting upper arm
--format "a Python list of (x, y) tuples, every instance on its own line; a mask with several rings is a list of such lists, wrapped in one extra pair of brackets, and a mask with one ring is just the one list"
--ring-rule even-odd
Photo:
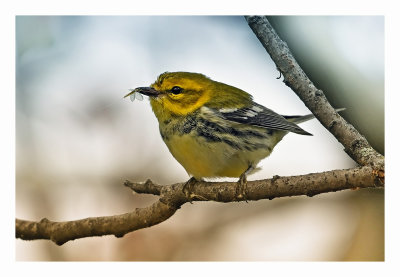
[[(383, 187), (384, 157), (377, 153), (351, 124), (335, 112), (323, 92), (314, 86), (300, 68), (288, 46), (279, 38), (266, 17), (246, 16), (246, 20), (285, 77), (285, 84), (293, 89), (318, 120), (342, 143), (345, 151), (362, 166), (249, 181), (246, 199), (313, 196), (345, 189)], [(183, 183), (161, 186), (150, 180), (145, 183), (126, 181), (125, 186), (137, 193), (154, 194), (160, 198), (149, 207), (138, 208), (122, 215), (66, 222), (54, 222), (46, 218), (39, 222), (16, 219), (16, 237), (24, 240), (48, 239), (58, 245), (84, 237), (103, 235), (122, 237), (129, 232), (167, 220), (186, 202), (237, 201), (236, 182), (199, 182), (193, 187), (194, 198), (188, 198), (183, 193)]]

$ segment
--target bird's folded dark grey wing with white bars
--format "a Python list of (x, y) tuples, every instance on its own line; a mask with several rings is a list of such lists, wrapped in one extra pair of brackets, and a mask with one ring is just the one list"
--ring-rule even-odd
[(311, 135), (295, 123), (286, 120), (283, 116), (254, 102), (249, 107), (219, 109), (218, 113), (223, 118), (233, 122), (250, 124), (267, 129), (289, 131), (301, 135)]

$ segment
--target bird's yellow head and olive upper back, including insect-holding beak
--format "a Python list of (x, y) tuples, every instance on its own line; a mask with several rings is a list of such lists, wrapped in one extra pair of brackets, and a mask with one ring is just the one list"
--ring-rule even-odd
[(186, 116), (203, 106), (240, 108), (252, 101), (251, 95), (243, 90), (191, 72), (165, 72), (150, 87), (136, 88), (126, 96), (136, 92), (150, 97), (159, 119)]

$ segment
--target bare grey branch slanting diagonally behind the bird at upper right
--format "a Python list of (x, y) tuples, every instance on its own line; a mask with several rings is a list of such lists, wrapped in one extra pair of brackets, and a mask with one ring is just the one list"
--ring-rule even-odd
[(344, 146), (359, 165), (384, 170), (384, 157), (373, 149), (353, 125), (344, 120), (329, 104), (322, 90), (317, 89), (297, 63), (287, 44), (282, 41), (265, 16), (246, 16), (250, 28), (260, 40), (289, 86), (315, 117)]

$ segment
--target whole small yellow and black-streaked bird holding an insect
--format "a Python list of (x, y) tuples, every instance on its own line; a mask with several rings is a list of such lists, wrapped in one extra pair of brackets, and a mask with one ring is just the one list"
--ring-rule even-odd
[(239, 177), (236, 196), (243, 198), (246, 176), (287, 133), (311, 135), (296, 124), (313, 115), (279, 115), (249, 93), (200, 73), (165, 72), (125, 97), (138, 93), (150, 97), (162, 139), (192, 176), (189, 188), (202, 178)]

